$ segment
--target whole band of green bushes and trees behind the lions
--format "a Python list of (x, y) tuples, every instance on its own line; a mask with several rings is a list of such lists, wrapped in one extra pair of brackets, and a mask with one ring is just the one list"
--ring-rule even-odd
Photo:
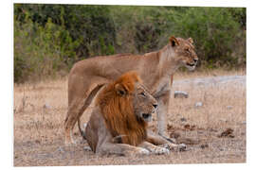
[(246, 8), (14, 4), (14, 81), (66, 75), (74, 62), (158, 50), (192, 37), (199, 67), (245, 68)]

